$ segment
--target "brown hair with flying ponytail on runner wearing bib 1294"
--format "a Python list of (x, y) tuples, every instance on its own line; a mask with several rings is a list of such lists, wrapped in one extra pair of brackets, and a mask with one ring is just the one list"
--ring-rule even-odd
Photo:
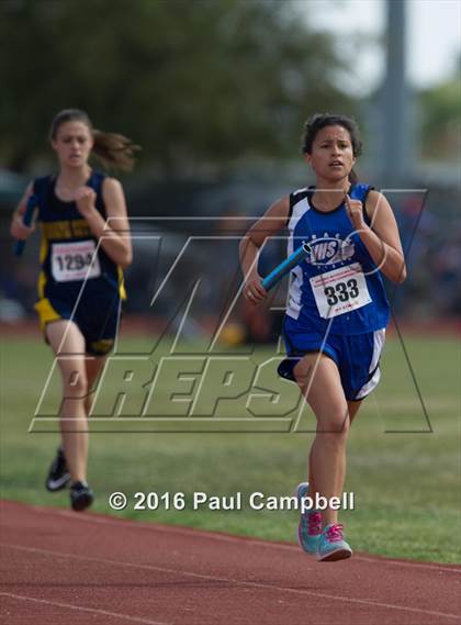
[(81, 122), (91, 132), (94, 145), (92, 152), (102, 163), (103, 167), (130, 171), (133, 169), (135, 152), (140, 149), (132, 139), (116, 133), (98, 131), (93, 127), (89, 115), (80, 109), (65, 109), (52, 122), (49, 138), (55, 139), (59, 126), (66, 122)]

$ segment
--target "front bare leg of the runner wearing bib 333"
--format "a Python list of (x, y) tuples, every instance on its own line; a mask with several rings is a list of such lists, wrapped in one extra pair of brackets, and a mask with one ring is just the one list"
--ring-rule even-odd
[[(296, 365), (294, 373), (317, 418), (317, 434), (310, 453), (310, 495), (318, 492), (327, 499), (340, 496), (350, 418), (338, 368), (323, 354), (308, 354)], [(338, 513), (326, 509), (322, 517), (323, 525), (329, 525), (337, 523)]]

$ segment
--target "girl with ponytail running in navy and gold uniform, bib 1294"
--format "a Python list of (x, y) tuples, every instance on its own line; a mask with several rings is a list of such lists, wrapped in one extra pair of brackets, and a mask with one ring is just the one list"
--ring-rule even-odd
[(42, 228), (35, 310), (63, 378), (63, 446), (46, 487), (57, 491), (71, 482), (71, 506), (79, 511), (93, 501), (87, 483), (91, 390), (114, 343), (125, 298), (122, 270), (132, 261), (122, 186), (92, 170), (88, 159), (94, 154), (103, 165), (130, 169), (136, 146), (122, 135), (95, 131), (87, 113), (75, 109), (56, 115), (49, 138), (59, 170), (31, 182), (11, 234), (19, 239), (32, 234), (34, 225), (25, 226), (22, 216), (33, 194)]

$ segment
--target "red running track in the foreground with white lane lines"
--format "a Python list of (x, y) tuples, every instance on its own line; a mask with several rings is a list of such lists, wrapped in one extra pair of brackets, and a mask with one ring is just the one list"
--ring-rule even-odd
[(461, 567), (1, 503), (8, 625), (461, 623)]

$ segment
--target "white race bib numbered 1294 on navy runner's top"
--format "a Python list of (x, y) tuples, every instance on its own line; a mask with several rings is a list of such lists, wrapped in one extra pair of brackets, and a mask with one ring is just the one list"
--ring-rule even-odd
[(101, 275), (94, 241), (54, 243), (52, 276), (57, 282), (98, 278)]

